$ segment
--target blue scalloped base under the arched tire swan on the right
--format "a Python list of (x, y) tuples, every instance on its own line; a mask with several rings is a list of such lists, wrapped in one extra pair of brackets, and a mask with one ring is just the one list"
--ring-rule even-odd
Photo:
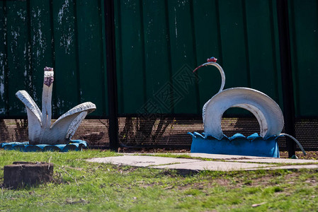
[(259, 134), (252, 134), (245, 137), (242, 134), (235, 134), (221, 140), (212, 136), (205, 136), (197, 132), (188, 133), (192, 139), (191, 153), (210, 153), (222, 155), (249, 155), (259, 157), (279, 158), (278, 143), (276, 136), (263, 139)]

